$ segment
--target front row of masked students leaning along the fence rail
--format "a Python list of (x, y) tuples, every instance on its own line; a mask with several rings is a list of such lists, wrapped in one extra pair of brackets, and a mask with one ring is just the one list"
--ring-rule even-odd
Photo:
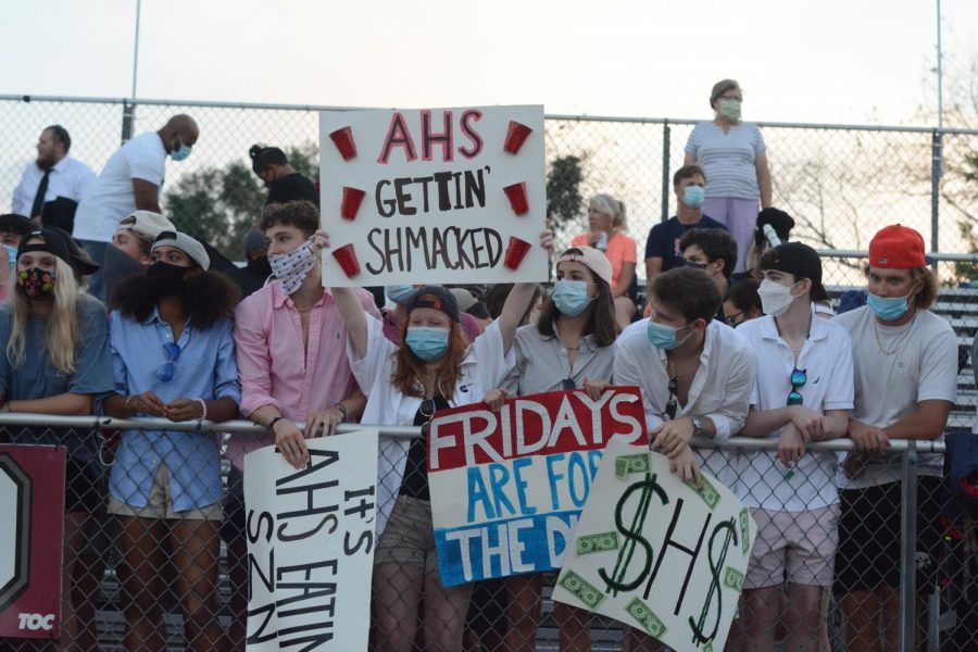
[[(13, 222), (5, 216), (0, 228)], [(87, 625), (74, 613), (87, 606), (73, 588), (86, 572), (78, 567), (86, 531), (106, 510), (122, 528), (126, 648), (165, 645), (159, 595), (168, 559), (188, 647), (242, 649), (246, 452), (275, 443), (298, 468), (309, 461), (305, 440), (342, 422), (421, 426), (448, 406), (498, 408), (505, 397), (557, 389), (597, 397), (610, 384), (641, 388), (652, 448), (675, 473), (697, 480), (704, 469), (752, 509), (758, 537), (731, 649), (773, 649), (779, 623), (791, 649), (816, 649), (827, 590), (844, 606), (850, 649), (895, 636), (900, 514), (880, 505), (899, 503), (901, 475), (886, 449), (892, 439), (939, 437), (956, 398), (957, 341), (928, 311), (937, 284), (919, 234), (899, 225), (880, 230), (869, 246), (867, 305), (829, 319), (816, 310), (828, 296), (810, 247), (768, 248), (757, 262), (760, 283), (723, 294), (729, 275), (715, 252), (729, 254), (729, 242), (716, 238), (723, 231), (690, 230), (680, 242), (687, 264), (659, 274), (650, 316), (620, 330), (613, 264), (588, 244), (556, 258), (553, 291), (536, 318), (539, 288), (518, 284), (498, 318), (480, 322), (460, 310), (466, 292), (457, 288), (389, 288), (393, 309), (384, 313), (365, 290), (323, 288), (318, 253), (328, 234), (318, 225), (310, 202), (268, 205), (260, 230), (274, 276), (238, 302), (237, 287), (209, 271), (200, 242), (156, 229), (166, 226), (162, 216), (134, 214), (114, 241), (148, 264), (117, 285), (111, 313), (79, 285), (63, 233), (40, 228), (20, 238), (0, 306), (0, 410), (174, 422), (240, 414), (268, 430), (230, 437), (226, 487), (214, 438), (124, 431), (105, 491), (93, 437), (5, 430), (15, 443), (67, 449), (64, 640), (84, 639)], [(147, 230), (156, 231), (152, 240)], [(540, 246), (552, 249), (550, 231)], [(479, 313), (481, 302), (472, 299), (468, 309)], [(735, 435), (775, 438), (778, 450), (690, 447), (693, 437), (726, 442)], [(841, 437), (858, 451), (842, 463), (806, 452), (811, 441)], [(428, 650), (456, 650), (466, 640), (472, 587), (447, 589), (438, 579), (425, 459), (424, 439), (381, 438), (377, 650), (411, 650), (415, 638)], [(930, 485), (939, 476), (939, 467), (921, 465), (925, 557), (937, 544)], [(231, 580), (227, 634), (215, 618), (221, 537)], [(920, 586), (933, 581), (932, 567), (921, 566), (931, 574)], [(504, 580), (504, 649), (532, 649), (544, 579)], [(555, 617), (562, 649), (589, 648), (586, 614), (559, 605)], [(629, 639), (631, 650), (653, 647), (635, 631)]]

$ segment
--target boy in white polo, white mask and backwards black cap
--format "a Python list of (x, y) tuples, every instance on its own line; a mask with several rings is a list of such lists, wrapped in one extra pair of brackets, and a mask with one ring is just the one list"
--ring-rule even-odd
[[(774, 650), (783, 618), (786, 649), (814, 652), (822, 594), (832, 584), (839, 497), (835, 454), (805, 454), (805, 443), (847, 435), (852, 342), (844, 328), (815, 317), (813, 298), (825, 289), (814, 249), (780, 244), (758, 266), (766, 316), (737, 328), (763, 361), (742, 434), (777, 439), (778, 451), (740, 455), (734, 490), (751, 507), (757, 538), (743, 581), (738, 638), (742, 650)], [(787, 611), (780, 614), (782, 590)]]

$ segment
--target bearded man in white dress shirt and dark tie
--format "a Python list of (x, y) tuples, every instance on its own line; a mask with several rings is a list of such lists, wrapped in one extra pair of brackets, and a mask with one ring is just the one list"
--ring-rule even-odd
[(24, 168), (21, 183), (14, 189), (13, 212), (40, 223), (45, 204), (61, 198), (67, 204), (47, 227), (71, 231), (74, 209), (95, 181), (95, 173), (85, 163), (68, 156), (72, 137), (61, 125), (51, 125), (37, 140), (37, 159)]

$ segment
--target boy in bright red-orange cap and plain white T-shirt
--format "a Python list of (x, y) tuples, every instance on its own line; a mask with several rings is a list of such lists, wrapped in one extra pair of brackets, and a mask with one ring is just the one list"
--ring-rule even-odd
[[(867, 305), (835, 322), (852, 337), (855, 408), (849, 436), (856, 453), (836, 475), (841, 489), (833, 590), (845, 611), (847, 648), (895, 650), (900, 628), (902, 457), (893, 439), (943, 435), (957, 399), (957, 336), (928, 309), (938, 285), (924, 238), (892, 225), (869, 242)], [(941, 455), (917, 466), (917, 588), (930, 593), (941, 544)]]

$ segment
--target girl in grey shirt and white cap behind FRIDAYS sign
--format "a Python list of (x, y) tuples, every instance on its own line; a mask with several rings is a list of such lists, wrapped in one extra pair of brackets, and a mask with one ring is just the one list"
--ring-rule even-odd
[[(611, 380), (618, 335), (611, 262), (594, 248), (574, 247), (557, 259), (556, 277), (537, 324), (516, 331), (516, 366), (502, 389), (486, 394), (493, 410), (501, 408), (507, 393), (585, 389), (597, 400)], [(510, 599), (505, 649), (511, 652), (536, 650), (542, 580), (539, 573), (504, 580)], [(591, 649), (587, 611), (556, 602), (554, 615), (561, 650)]]

